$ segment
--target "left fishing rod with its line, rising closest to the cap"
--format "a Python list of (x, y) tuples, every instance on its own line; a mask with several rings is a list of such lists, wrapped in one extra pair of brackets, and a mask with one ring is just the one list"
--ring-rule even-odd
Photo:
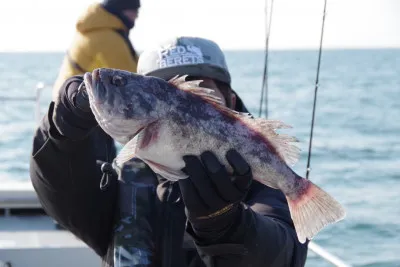
[[(264, 64), (264, 71), (263, 71), (263, 82), (261, 87), (261, 97), (260, 97), (260, 109), (258, 111), (258, 117), (261, 117), (263, 100), (265, 102), (265, 118), (268, 118), (268, 51), (269, 51), (269, 36), (271, 32), (271, 23), (272, 23), (272, 10), (274, 6), (274, 0), (271, 0), (271, 15), (268, 21), (268, 0), (265, 1), (265, 28), (266, 28), (266, 38), (265, 38), (265, 64)], [(265, 92), (264, 92), (265, 88)], [(264, 97), (265, 95), (265, 97)], [(265, 99), (264, 99), (265, 98)]]

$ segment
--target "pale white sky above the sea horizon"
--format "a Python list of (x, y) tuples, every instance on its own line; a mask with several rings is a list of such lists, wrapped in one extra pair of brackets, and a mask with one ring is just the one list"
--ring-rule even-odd
[[(77, 17), (97, 1), (0, 0), (0, 51), (64, 51)], [(265, 2), (142, 0), (130, 38), (138, 51), (174, 35), (209, 38), (223, 49), (263, 49)], [(270, 48), (317, 48), (323, 3), (274, 0)], [(399, 0), (328, 0), (324, 48), (400, 47), (399, 14)]]

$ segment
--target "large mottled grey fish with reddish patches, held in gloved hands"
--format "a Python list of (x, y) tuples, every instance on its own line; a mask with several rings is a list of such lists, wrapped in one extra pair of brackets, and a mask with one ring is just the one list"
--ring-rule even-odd
[(283, 192), (300, 243), (346, 216), (344, 207), (292, 166), (298, 140), (278, 133), (291, 128), (281, 120), (255, 118), (226, 107), (214, 90), (187, 75), (169, 80), (124, 70), (99, 68), (84, 74), (90, 108), (99, 126), (123, 147), (114, 159), (136, 157), (170, 181), (187, 179), (184, 155), (213, 152), (225, 158), (235, 149), (249, 163), (253, 179)]

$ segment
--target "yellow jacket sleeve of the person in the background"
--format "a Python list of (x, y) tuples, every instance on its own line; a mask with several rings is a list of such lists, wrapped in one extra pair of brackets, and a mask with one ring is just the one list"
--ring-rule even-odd
[(121, 36), (113, 31), (94, 33), (93, 43), (96, 45), (96, 68), (113, 68), (137, 72), (137, 59), (132, 56), (129, 46)]

